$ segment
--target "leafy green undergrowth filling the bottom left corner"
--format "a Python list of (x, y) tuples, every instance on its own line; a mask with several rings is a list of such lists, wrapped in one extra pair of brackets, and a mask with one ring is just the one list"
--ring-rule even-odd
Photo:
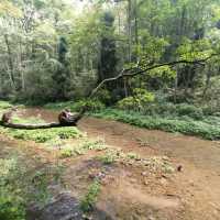
[(0, 219), (24, 220), (26, 205), (34, 201), (44, 206), (51, 198), (47, 186), (59, 183), (61, 167), (37, 170), (32, 165), (33, 161), (23, 163), (21, 155), (0, 158)]

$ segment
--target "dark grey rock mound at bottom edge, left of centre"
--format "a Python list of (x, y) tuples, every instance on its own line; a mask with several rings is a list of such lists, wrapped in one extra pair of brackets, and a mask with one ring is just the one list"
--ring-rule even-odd
[(43, 208), (31, 206), (26, 220), (82, 220), (79, 202), (68, 193), (59, 194)]

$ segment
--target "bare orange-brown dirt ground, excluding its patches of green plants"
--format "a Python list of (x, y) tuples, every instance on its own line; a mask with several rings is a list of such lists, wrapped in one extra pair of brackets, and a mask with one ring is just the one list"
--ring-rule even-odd
[[(47, 121), (56, 119), (56, 113), (45, 110), (23, 113), (25, 117), (37, 114)], [(92, 174), (105, 174), (92, 219), (220, 219), (220, 143), (95, 118), (82, 119), (79, 129), (89, 138), (105, 139), (109, 146), (123, 152), (143, 157), (167, 156), (175, 167), (173, 174), (164, 174), (133, 164), (106, 166), (96, 160), (94, 151), (63, 160), (67, 167), (63, 177), (65, 185), (76, 198), (85, 194)], [(9, 145), (18, 147), (18, 142), (12, 142), (1, 136), (0, 153)], [(53, 163), (56, 158), (56, 153), (38, 145), (26, 143), (22, 148), (24, 154), (37, 154), (45, 162)]]

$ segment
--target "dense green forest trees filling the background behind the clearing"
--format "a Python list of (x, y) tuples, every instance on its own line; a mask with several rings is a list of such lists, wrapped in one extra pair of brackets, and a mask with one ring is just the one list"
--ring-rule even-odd
[[(218, 55), (219, 3), (2, 0), (0, 98), (35, 103), (78, 100), (123, 68), (136, 72)], [(134, 101), (131, 96), (151, 101), (163, 94), (174, 102), (211, 101), (218, 108), (219, 67), (218, 56), (204, 65), (162, 66), (132, 79), (109, 82), (99, 97), (106, 105), (123, 99), (121, 106), (130, 106)]]

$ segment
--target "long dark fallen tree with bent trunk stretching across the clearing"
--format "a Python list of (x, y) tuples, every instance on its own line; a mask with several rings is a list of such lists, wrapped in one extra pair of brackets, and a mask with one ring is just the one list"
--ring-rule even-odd
[[(150, 65), (148, 67), (145, 68), (140, 68), (139, 64), (136, 64), (135, 67), (122, 69), (119, 75), (112, 78), (107, 78), (102, 80), (95, 89), (91, 90), (90, 95), (87, 97), (88, 99), (91, 99), (96, 96), (97, 91), (107, 82), (110, 81), (116, 81), (122, 78), (130, 78), (130, 77), (135, 77), (139, 75), (143, 75), (150, 70), (164, 67), (164, 66), (176, 66), (179, 64), (188, 64), (188, 65), (206, 65), (206, 62), (211, 59), (215, 56), (219, 56), (219, 54), (211, 54), (210, 56), (201, 59), (195, 59), (195, 61), (175, 61), (175, 62), (169, 62), (169, 63), (163, 63), (163, 64), (156, 64), (156, 65)], [(85, 105), (79, 113), (74, 114), (70, 117), (70, 119), (66, 120), (65, 123), (61, 122), (52, 122), (52, 123), (44, 123), (44, 124), (20, 124), (20, 123), (12, 123), (11, 118), (12, 118), (12, 112), (6, 112), (2, 117), (2, 120), (0, 121), (0, 125), (6, 127), (6, 128), (12, 128), (12, 129), (25, 129), (25, 130), (34, 130), (34, 129), (51, 129), (51, 128), (61, 128), (61, 127), (76, 127), (78, 121), (85, 116), (86, 111), (88, 111), (89, 107), (88, 105)], [(4, 116), (9, 113), (10, 119), (9, 120), (3, 120)]]

